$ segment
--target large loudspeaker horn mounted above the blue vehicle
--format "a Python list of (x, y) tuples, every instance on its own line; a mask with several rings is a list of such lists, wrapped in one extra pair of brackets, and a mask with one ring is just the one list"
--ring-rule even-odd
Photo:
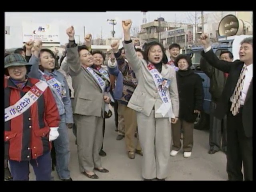
[(227, 15), (220, 21), (218, 33), (220, 36), (252, 35), (252, 24), (234, 15)]

